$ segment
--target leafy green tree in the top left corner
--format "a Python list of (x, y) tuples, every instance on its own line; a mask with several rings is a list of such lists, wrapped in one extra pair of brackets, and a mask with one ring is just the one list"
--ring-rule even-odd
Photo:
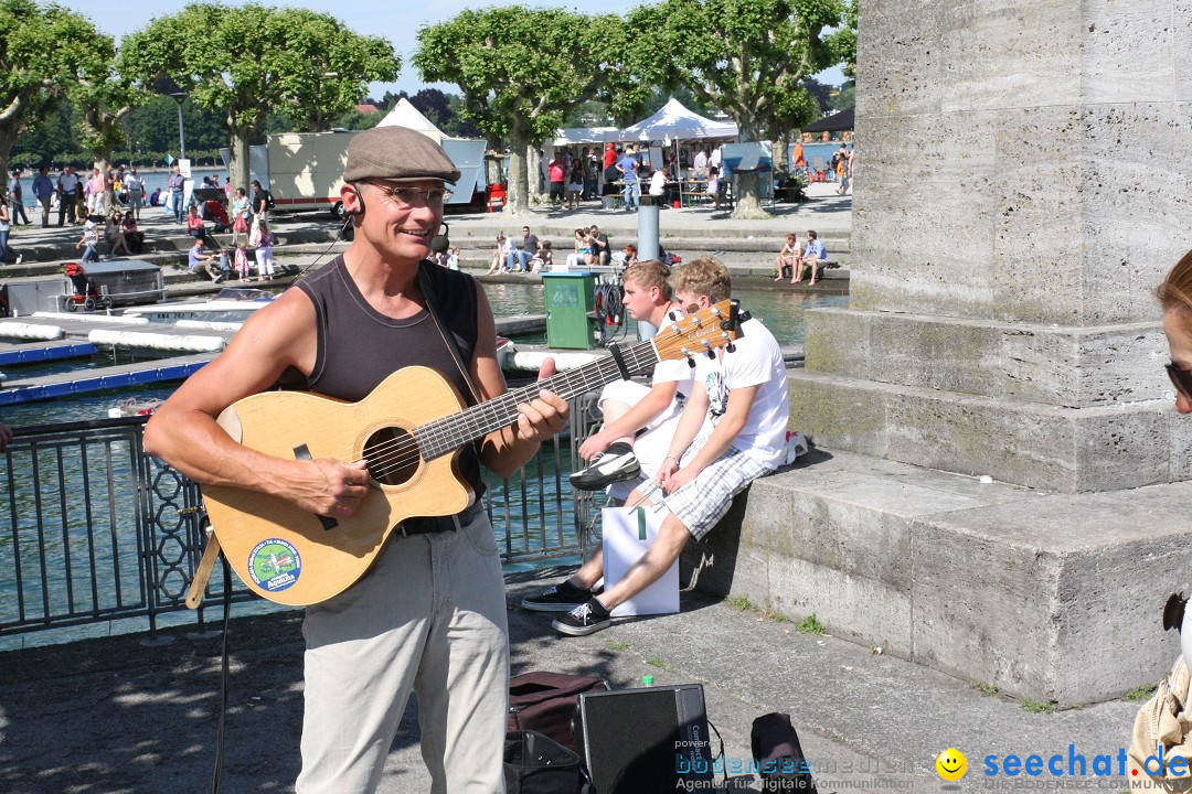
[[(98, 37), (89, 19), (66, 8), (0, 0), (0, 173), (7, 173), (17, 136), (51, 115), (79, 83), (95, 60), (91, 44)], [(94, 71), (88, 67), (86, 74)]]

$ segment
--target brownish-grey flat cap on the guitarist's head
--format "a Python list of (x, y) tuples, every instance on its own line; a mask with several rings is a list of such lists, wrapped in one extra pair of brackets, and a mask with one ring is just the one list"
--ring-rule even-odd
[(459, 169), (442, 146), (409, 127), (373, 127), (348, 144), (344, 182), (365, 180), (442, 180), (454, 185)]

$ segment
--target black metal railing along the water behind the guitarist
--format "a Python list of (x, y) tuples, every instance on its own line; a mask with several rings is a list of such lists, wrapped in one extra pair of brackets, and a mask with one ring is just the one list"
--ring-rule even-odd
[[(486, 475), (485, 506), (507, 563), (578, 558), (594, 537), (591, 494), (567, 482), (594, 395), (572, 402), (570, 444), (552, 439), (514, 477)], [(7, 527), (0, 523), (0, 639), (119, 621), (113, 631), (203, 625), (186, 593), (205, 544), (197, 483), (142, 446), (144, 417), (17, 429), (0, 455)], [(222, 594), (221, 567), (207, 593)], [(238, 580), (234, 602), (256, 596)], [(80, 633), (80, 636), (82, 636)], [(67, 637), (69, 638), (69, 637)]]

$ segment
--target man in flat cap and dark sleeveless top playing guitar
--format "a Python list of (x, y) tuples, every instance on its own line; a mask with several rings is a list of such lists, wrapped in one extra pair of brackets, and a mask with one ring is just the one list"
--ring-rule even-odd
[[(446, 152), (412, 130), (377, 127), (354, 137), (340, 190), (355, 226), (350, 246), (256, 312), (187, 380), (147, 425), (145, 450), (204, 484), (280, 498), (333, 524), (352, 517), (379, 487), (368, 461), (266, 455), (236, 443), (216, 418), (278, 385), (359, 401), (415, 364), (468, 395), (418, 276), (442, 223), (446, 185), (459, 176)], [(484, 292), (446, 268), (424, 277), (478, 399), (504, 393)], [(540, 377), (553, 371), (547, 361)], [(503, 790), (505, 593), (478, 464), (511, 475), (565, 426), (567, 404), (541, 390), (517, 412), (516, 423), (460, 452), (472, 506), (404, 521), (367, 576), (308, 608), (299, 794), (375, 790), (411, 690), (432, 790)]]

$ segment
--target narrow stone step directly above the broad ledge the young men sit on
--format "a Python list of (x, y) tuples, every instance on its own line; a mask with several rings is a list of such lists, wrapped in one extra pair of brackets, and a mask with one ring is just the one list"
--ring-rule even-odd
[(1190, 476), (1192, 423), (1162, 400), (1063, 408), (805, 370), (789, 383), (791, 426), (830, 449), (1063, 493)]

